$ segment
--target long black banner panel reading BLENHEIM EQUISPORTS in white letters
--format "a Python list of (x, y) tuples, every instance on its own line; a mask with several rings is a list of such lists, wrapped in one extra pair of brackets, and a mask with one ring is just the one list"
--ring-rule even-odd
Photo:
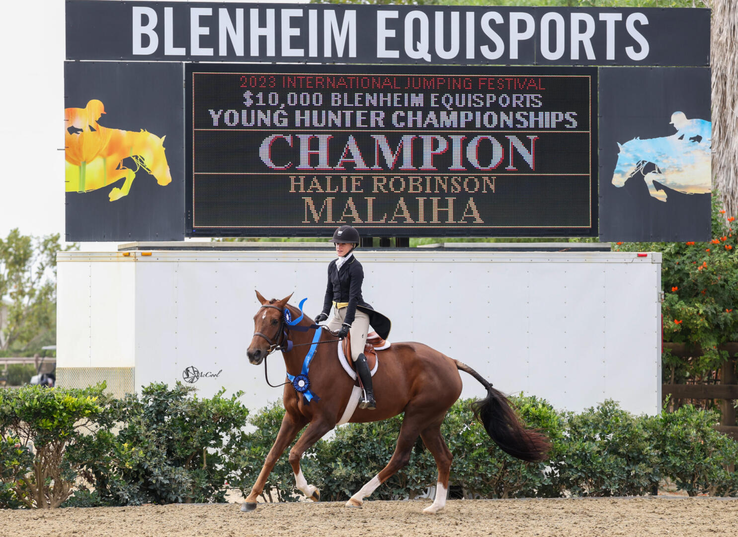
[[(255, 39), (260, 43), (254, 49), (249, 46), (252, 13), (258, 27)], [(353, 52), (337, 37), (344, 24), (348, 28), (347, 14), (351, 14), (354, 28)], [(438, 49), (449, 47), (451, 42), (452, 16), (458, 25), (457, 50), (441, 55)], [(424, 32), (419, 31), (421, 21)], [(226, 38), (221, 41), (219, 37), (224, 33)], [(559, 44), (555, 43), (556, 35)], [(577, 36), (582, 41), (573, 53)], [(443, 37), (439, 45), (437, 37), (438, 41)], [(329, 53), (323, 47), (324, 39), (335, 43)], [(379, 40), (387, 53), (380, 55)], [(415, 50), (415, 46), (404, 46), (406, 40), (427, 45)], [(345, 45), (340, 51), (338, 41)], [(545, 54), (544, 49), (558, 52)], [(66, 0), (66, 59), (708, 66), (710, 10)]]

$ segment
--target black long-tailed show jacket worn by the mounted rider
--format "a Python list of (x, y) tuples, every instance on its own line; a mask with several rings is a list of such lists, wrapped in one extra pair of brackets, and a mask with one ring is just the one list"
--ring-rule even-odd
[(364, 269), (356, 256), (345, 261), (340, 269), (336, 268), (334, 259), (328, 264), (328, 287), (325, 289), (325, 298), (323, 300), (323, 313), (328, 315), (331, 311), (333, 302), (348, 302), (346, 309), (346, 317), (344, 322), (352, 324), (356, 315), (356, 308), (365, 312), (369, 316), (369, 324), (382, 339), (387, 339), (390, 335), (392, 322), (375, 311), (362, 297), (362, 283), (364, 282)]

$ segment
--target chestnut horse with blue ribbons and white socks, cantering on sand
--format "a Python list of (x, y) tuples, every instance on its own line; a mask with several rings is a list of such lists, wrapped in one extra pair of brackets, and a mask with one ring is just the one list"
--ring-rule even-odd
[[(320, 490), (309, 485), (300, 469), (300, 458), (318, 439), (331, 431), (344, 412), (354, 391), (354, 380), (342, 369), (337, 356), (338, 339), (332, 332), (317, 326), (300, 309), (288, 304), (292, 295), (266, 300), (256, 291), (261, 307), (254, 315), (254, 336), (246, 354), (254, 365), (262, 363), (275, 350), (281, 350), (289, 378), (283, 392), (284, 419), (274, 445), (266, 456), (261, 473), (241, 504), (241, 511), (256, 509), (257, 498), (263, 492), (269, 473), (286, 447), (305, 425), (306, 430), (289, 452), (296, 488), (317, 502)], [(288, 322), (294, 318), (294, 321)], [(299, 322), (297, 322), (299, 321)], [(318, 332), (314, 332), (317, 330)], [(310, 333), (313, 332), (313, 333)], [(327, 343), (327, 344), (320, 344)], [(311, 360), (306, 346), (314, 351)], [(487, 391), (483, 400), (474, 403), (475, 415), (492, 440), (511, 456), (528, 462), (545, 460), (550, 442), (539, 431), (520, 423), (511, 403), (504, 394), (492, 387), (479, 373), (458, 360), (449, 358), (423, 343), (392, 343), (379, 351), (379, 366), (373, 380), (376, 410), (356, 408), (351, 423), (366, 423), (396, 416), (404, 412), (395, 451), (387, 465), (373, 479), (354, 493), (346, 507), (362, 507), (364, 499), (382, 485), (393, 473), (407, 465), (418, 436), (435, 459), (438, 468), (435, 499), (424, 513), (444, 510), (449, 490), (449, 472), (453, 456), (441, 436), (441, 423), (446, 412), (461, 395), (461, 376), (466, 372), (478, 380)], [(307, 378), (305, 363), (309, 364)], [(265, 364), (266, 367), (266, 364)], [(309, 386), (309, 390), (306, 390)], [(298, 390), (303, 391), (300, 397)], [(308, 397), (306, 397), (306, 393)], [(309, 397), (313, 395), (313, 397)], [(355, 404), (355, 403), (354, 403)]]

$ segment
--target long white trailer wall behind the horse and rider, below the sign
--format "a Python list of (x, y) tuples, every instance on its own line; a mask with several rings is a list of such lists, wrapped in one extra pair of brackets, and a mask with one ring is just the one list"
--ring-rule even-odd
[[(186, 380), (201, 397), (221, 386), (244, 390), (249, 408), (280, 399), (263, 366), (246, 358), (254, 290), (267, 298), (294, 292), (292, 304), (307, 297), (305, 311), (316, 315), (332, 245), (193, 244), (58, 254), (59, 386), (106, 380), (120, 395)], [(466, 245), (356, 256), (365, 300), (393, 321), (390, 341), (427, 343), (497, 389), (556, 408), (581, 411), (608, 398), (635, 413), (661, 408), (660, 253)], [(280, 353), (267, 361), (269, 380), (283, 382)], [(477, 381), (461, 376), (462, 397), (482, 395)]]

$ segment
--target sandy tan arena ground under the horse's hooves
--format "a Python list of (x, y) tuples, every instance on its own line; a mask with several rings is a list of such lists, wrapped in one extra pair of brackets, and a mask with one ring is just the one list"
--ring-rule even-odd
[(444, 513), (423, 514), (430, 503), (259, 504), (252, 513), (238, 504), (2, 510), (0, 536), (738, 536), (738, 499), (452, 500)]

